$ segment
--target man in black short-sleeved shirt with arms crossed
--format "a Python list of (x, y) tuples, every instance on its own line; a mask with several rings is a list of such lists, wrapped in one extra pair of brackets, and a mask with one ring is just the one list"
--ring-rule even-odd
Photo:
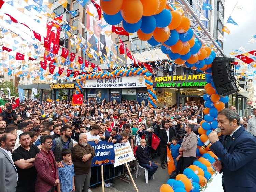
[(20, 146), (12, 153), (14, 164), (18, 171), (17, 192), (34, 192), (37, 180), (37, 170), (34, 167), (35, 156), (39, 149), (30, 145), (28, 133), (19, 135)]

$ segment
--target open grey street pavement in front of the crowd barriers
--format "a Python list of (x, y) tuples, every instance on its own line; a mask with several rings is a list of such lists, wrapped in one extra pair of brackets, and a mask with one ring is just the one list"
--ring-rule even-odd
[[(154, 162), (157, 162), (156, 164), (158, 165), (158, 169), (154, 174), (154, 179), (149, 180), (148, 184), (145, 182), (144, 178), (144, 170), (141, 172), (141, 176), (137, 176), (137, 179), (135, 178), (136, 176), (136, 171), (131, 171), (132, 177), (134, 179), (134, 182), (138, 188), (139, 192), (158, 192), (159, 188), (162, 184), (166, 183), (166, 181), (169, 178), (169, 174), (167, 173), (167, 167), (165, 169), (161, 168), (161, 163), (160, 163), (160, 157), (157, 156), (157, 158), (153, 159)], [(127, 173), (128, 174), (128, 173)], [(130, 184), (115, 178), (116, 183), (112, 184), (111, 187), (107, 188), (104, 187), (104, 191), (106, 192), (132, 192), (136, 191), (132, 182)], [(95, 187), (90, 187), (92, 192), (101, 192), (102, 188), (96, 189)]]

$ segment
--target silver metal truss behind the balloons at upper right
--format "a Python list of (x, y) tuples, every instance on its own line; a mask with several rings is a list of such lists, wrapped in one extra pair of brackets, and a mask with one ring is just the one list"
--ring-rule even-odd
[(174, 11), (171, 5), (175, 6), (175, 11), (179, 11), (181, 9), (183, 10), (182, 16), (186, 16), (190, 19), (191, 29), (193, 30), (195, 37), (202, 43), (203, 46), (210, 47), (216, 53), (216, 56), (226, 57), (222, 48), (215, 41), (208, 29), (204, 26), (187, 0), (168, 0), (167, 6), (169, 9)]

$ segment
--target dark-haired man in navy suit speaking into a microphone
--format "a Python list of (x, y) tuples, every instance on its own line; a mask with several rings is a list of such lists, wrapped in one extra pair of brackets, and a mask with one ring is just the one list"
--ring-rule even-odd
[(222, 172), (224, 192), (256, 191), (256, 138), (240, 126), (240, 116), (231, 109), (218, 112), (218, 127), (224, 135), (219, 142), (218, 135), (212, 131), (208, 137), (210, 149), (218, 156), (212, 164), (216, 171)]

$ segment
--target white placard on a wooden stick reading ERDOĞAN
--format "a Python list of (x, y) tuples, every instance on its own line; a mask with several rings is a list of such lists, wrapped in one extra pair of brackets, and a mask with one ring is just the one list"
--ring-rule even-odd
[(125, 163), (135, 160), (135, 157), (129, 142), (115, 143), (114, 148), (115, 148), (114, 167), (117, 167), (119, 165), (123, 165)]

